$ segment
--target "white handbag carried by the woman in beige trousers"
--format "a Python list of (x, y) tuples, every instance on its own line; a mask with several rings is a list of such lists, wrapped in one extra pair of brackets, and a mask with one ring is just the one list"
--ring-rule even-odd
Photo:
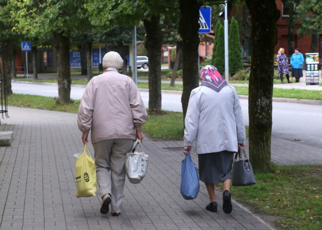
[[(141, 146), (141, 152), (136, 151), (138, 144)], [(125, 158), (125, 173), (132, 184), (139, 184), (145, 177), (148, 163), (149, 155), (143, 152), (141, 141), (138, 139), (134, 142), (132, 150), (126, 153)]]

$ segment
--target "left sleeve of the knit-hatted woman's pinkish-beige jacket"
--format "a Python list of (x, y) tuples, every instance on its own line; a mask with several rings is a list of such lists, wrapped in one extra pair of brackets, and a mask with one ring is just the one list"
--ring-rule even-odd
[(80, 100), (80, 107), (78, 109), (77, 125), (83, 134), (88, 134), (92, 126), (94, 110), (94, 95), (93, 84), (90, 81), (85, 89), (85, 92)]

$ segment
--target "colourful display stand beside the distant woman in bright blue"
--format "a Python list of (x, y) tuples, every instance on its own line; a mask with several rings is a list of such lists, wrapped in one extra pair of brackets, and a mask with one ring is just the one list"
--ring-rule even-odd
[(319, 53), (306, 53), (306, 85), (319, 85)]

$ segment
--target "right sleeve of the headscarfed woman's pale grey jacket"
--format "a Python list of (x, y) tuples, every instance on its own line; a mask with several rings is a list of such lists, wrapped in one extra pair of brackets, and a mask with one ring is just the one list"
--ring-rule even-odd
[(234, 103), (234, 114), (236, 120), (236, 129), (237, 129), (237, 142), (239, 144), (245, 143), (246, 133), (244, 119), (242, 117), (241, 103), (238, 98), (236, 89), (234, 88), (235, 103)]

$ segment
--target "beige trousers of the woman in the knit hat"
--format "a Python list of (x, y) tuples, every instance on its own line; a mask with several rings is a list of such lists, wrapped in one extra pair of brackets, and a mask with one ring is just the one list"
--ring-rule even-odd
[(93, 144), (97, 183), (101, 196), (111, 194), (112, 210), (121, 208), (125, 183), (125, 156), (131, 151), (133, 143), (133, 139), (111, 139)]

